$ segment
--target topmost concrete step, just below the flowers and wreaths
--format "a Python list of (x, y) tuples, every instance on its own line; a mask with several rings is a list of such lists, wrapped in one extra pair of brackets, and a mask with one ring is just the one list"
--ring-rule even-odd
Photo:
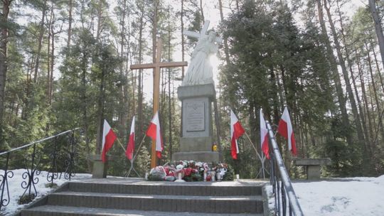
[(206, 184), (158, 184), (158, 183), (80, 183), (70, 182), (68, 190), (95, 193), (132, 193), (151, 195), (261, 195), (262, 185), (259, 187), (244, 183), (206, 183)]

